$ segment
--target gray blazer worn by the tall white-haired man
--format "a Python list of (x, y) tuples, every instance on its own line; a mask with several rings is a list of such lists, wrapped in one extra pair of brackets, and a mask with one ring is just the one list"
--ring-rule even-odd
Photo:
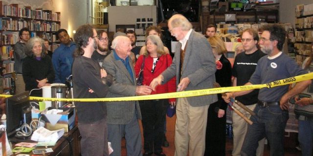
[[(176, 85), (179, 84), (179, 63), (180, 63), (181, 43), (178, 42), (175, 49), (173, 63), (161, 75), (164, 77), (164, 83), (176, 76)], [(190, 83), (185, 89), (199, 90), (213, 88), (215, 81), (216, 64), (211, 45), (205, 37), (192, 30), (182, 67), (182, 78), (188, 77)], [(206, 95), (187, 98), (191, 106), (205, 106), (216, 102), (217, 95)]]

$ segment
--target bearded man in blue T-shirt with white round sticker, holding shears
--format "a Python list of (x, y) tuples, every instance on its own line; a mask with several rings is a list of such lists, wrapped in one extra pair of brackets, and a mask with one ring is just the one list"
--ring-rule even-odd
[[(279, 79), (291, 78), (306, 74), (297, 63), (281, 50), (286, 38), (285, 28), (279, 24), (263, 26), (259, 40), (261, 51), (268, 56), (259, 59), (255, 72), (245, 85), (267, 84)], [(269, 142), (270, 156), (284, 156), (284, 132), (289, 118), (288, 99), (301, 93), (311, 80), (297, 82), (289, 90), (289, 85), (261, 88), (258, 95), (258, 104), (254, 109), (256, 116), (250, 117), (253, 122), (248, 125), (246, 137), (241, 149), (241, 156), (255, 156), (258, 141), (266, 137)], [(253, 90), (230, 92), (224, 98), (246, 95)]]

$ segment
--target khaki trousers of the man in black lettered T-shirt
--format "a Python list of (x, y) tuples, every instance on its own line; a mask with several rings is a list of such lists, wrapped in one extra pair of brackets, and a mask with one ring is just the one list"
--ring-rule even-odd
[[(253, 111), (255, 106), (256, 104), (248, 105), (246, 107), (248, 107), (250, 110)], [(251, 115), (248, 112), (246, 112), (244, 109), (242, 109), (241, 107), (236, 106), (236, 108), (240, 112), (242, 112), (246, 117), (248, 118), (251, 117)], [(233, 135), (234, 135), (234, 138), (233, 138), (234, 147), (233, 147), (232, 156), (240, 156), (240, 151), (245, 140), (248, 123), (242, 117), (238, 116), (237, 113), (234, 113), (234, 112), (232, 115), (232, 120), (233, 120), (232, 126), (233, 126)], [(256, 156), (263, 156), (264, 143), (265, 143), (265, 138), (259, 141), (259, 147), (256, 150)]]

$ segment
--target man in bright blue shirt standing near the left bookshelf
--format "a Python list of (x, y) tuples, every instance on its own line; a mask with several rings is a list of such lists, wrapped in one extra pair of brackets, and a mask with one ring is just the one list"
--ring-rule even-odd
[(52, 64), (55, 72), (55, 83), (65, 83), (66, 78), (71, 75), (73, 64), (73, 52), (76, 44), (69, 39), (67, 30), (59, 29), (56, 33), (60, 46), (52, 54)]

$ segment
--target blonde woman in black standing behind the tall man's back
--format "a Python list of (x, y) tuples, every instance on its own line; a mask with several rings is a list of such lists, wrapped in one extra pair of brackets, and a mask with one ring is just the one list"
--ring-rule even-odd
[[(212, 46), (216, 61), (216, 82), (221, 87), (231, 86), (231, 64), (225, 57), (227, 52), (221, 38), (214, 36), (207, 39)], [(218, 94), (218, 101), (210, 104), (207, 115), (204, 156), (225, 156), (226, 145), (226, 109), (227, 103)]]

